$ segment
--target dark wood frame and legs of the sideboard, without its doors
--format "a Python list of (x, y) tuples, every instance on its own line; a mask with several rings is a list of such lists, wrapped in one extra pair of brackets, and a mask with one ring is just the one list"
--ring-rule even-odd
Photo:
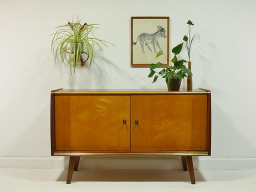
[[(206, 95), (206, 149), (176, 151), (84, 151), (56, 150), (55, 148), (55, 101), (56, 95)], [(183, 170), (188, 170), (192, 184), (195, 184), (192, 156), (210, 155), (211, 151), (211, 96), (210, 90), (193, 89), (168, 91), (162, 89), (55, 89), (51, 91), (50, 128), (51, 155), (70, 156), (66, 183), (71, 182), (73, 170), (77, 170), (80, 156), (181, 156)]]

